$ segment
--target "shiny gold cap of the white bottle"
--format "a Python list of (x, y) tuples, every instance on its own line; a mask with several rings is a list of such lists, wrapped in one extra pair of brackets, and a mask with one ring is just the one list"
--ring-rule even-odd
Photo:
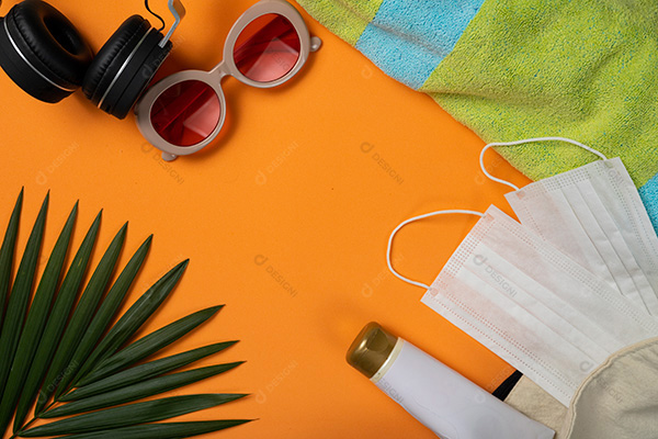
[(371, 322), (359, 333), (348, 350), (348, 363), (368, 379), (384, 365), (397, 342), (397, 337)]

